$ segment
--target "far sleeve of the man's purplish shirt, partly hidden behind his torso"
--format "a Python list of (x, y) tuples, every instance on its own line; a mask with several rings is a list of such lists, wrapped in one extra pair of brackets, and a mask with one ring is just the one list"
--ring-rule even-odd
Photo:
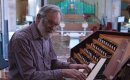
[(53, 49), (52, 41), (50, 40), (50, 52), (52, 54), (51, 68), (52, 69), (69, 69), (69, 62), (62, 62), (57, 59), (57, 55)]

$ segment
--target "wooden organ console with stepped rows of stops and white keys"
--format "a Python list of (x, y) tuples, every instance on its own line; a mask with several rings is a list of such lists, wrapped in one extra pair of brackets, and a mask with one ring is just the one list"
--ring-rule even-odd
[(88, 64), (86, 80), (117, 80), (130, 57), (129, 39), (130, 33), (97, 31), (71, 49), (70, 61)]

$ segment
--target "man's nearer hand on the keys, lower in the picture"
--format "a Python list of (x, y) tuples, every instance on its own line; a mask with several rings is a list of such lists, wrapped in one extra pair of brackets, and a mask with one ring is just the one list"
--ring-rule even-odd
[(62, 74), (63, 77), (73, 78), (75, 80), (85, 80), (87, 78), (87, 76), (76, 69), (62, 69)]

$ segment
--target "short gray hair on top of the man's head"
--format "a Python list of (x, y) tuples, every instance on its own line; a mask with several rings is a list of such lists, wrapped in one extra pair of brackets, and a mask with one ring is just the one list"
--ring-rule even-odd
[(40, 14), (43, 18), (45, 18), (48, 11), (59, 12), (62, 15), (60, 8), (56, 5), (46, 5), (41, 7), (38, 14)]

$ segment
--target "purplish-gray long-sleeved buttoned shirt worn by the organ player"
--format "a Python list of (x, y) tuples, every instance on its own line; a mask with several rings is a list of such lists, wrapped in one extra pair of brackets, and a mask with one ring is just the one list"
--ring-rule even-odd
[(8, 47), (9, 80), (60, 80), (69, 66), (57, 60), (51, 39), (41, 38), (35, 23), (16, 31)]

